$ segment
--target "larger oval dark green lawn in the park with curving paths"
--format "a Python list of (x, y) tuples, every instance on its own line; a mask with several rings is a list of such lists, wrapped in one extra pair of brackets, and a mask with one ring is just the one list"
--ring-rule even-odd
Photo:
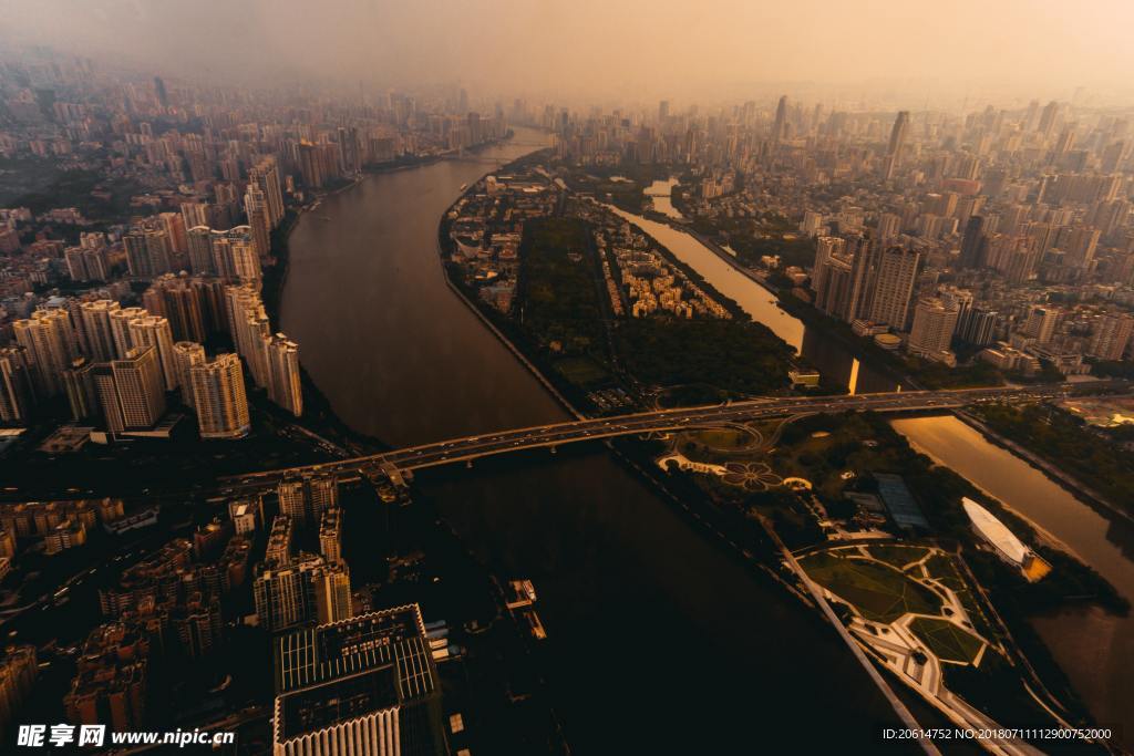
[(846, 559), (831, 552), (802, 560), (815, 583), (854, 606), (869, 620), (892, 622), (903, 614), (939, 614), (940, 600), (899, 570), (864, 559)]

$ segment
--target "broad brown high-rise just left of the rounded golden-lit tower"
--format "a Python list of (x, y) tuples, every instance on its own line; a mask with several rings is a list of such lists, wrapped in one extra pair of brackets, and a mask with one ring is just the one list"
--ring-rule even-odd
[(95, 365), (94, 385), (111, 433), (152, 428), (166, 411), (158, 350), (132, 349), (125, 359)]

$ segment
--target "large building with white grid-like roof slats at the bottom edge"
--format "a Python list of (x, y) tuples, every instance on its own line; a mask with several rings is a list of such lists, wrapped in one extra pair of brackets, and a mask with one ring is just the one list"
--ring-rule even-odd
[(274, 754), (449, 753), (440, 680), (417, 604), (293, 630), (274, 646)]

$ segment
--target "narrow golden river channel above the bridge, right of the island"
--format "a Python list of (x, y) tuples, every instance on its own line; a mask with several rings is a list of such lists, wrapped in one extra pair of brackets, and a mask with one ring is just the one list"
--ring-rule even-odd
[(776, 295), (734, 267), (695, 237), (659, 221), (629, 213), (612, 205), (610, 210), (634, 223), (674, 256), (697, 271), (726, 297), (736, 301), (752, 320), (763, 323), (792, 345), (832, 384), (845, 385), (850, 393), (894, 391), (897, 384), (883, 373), (862, 365), (835, 337), (807, 328), (803, 321), (780, 308)]

